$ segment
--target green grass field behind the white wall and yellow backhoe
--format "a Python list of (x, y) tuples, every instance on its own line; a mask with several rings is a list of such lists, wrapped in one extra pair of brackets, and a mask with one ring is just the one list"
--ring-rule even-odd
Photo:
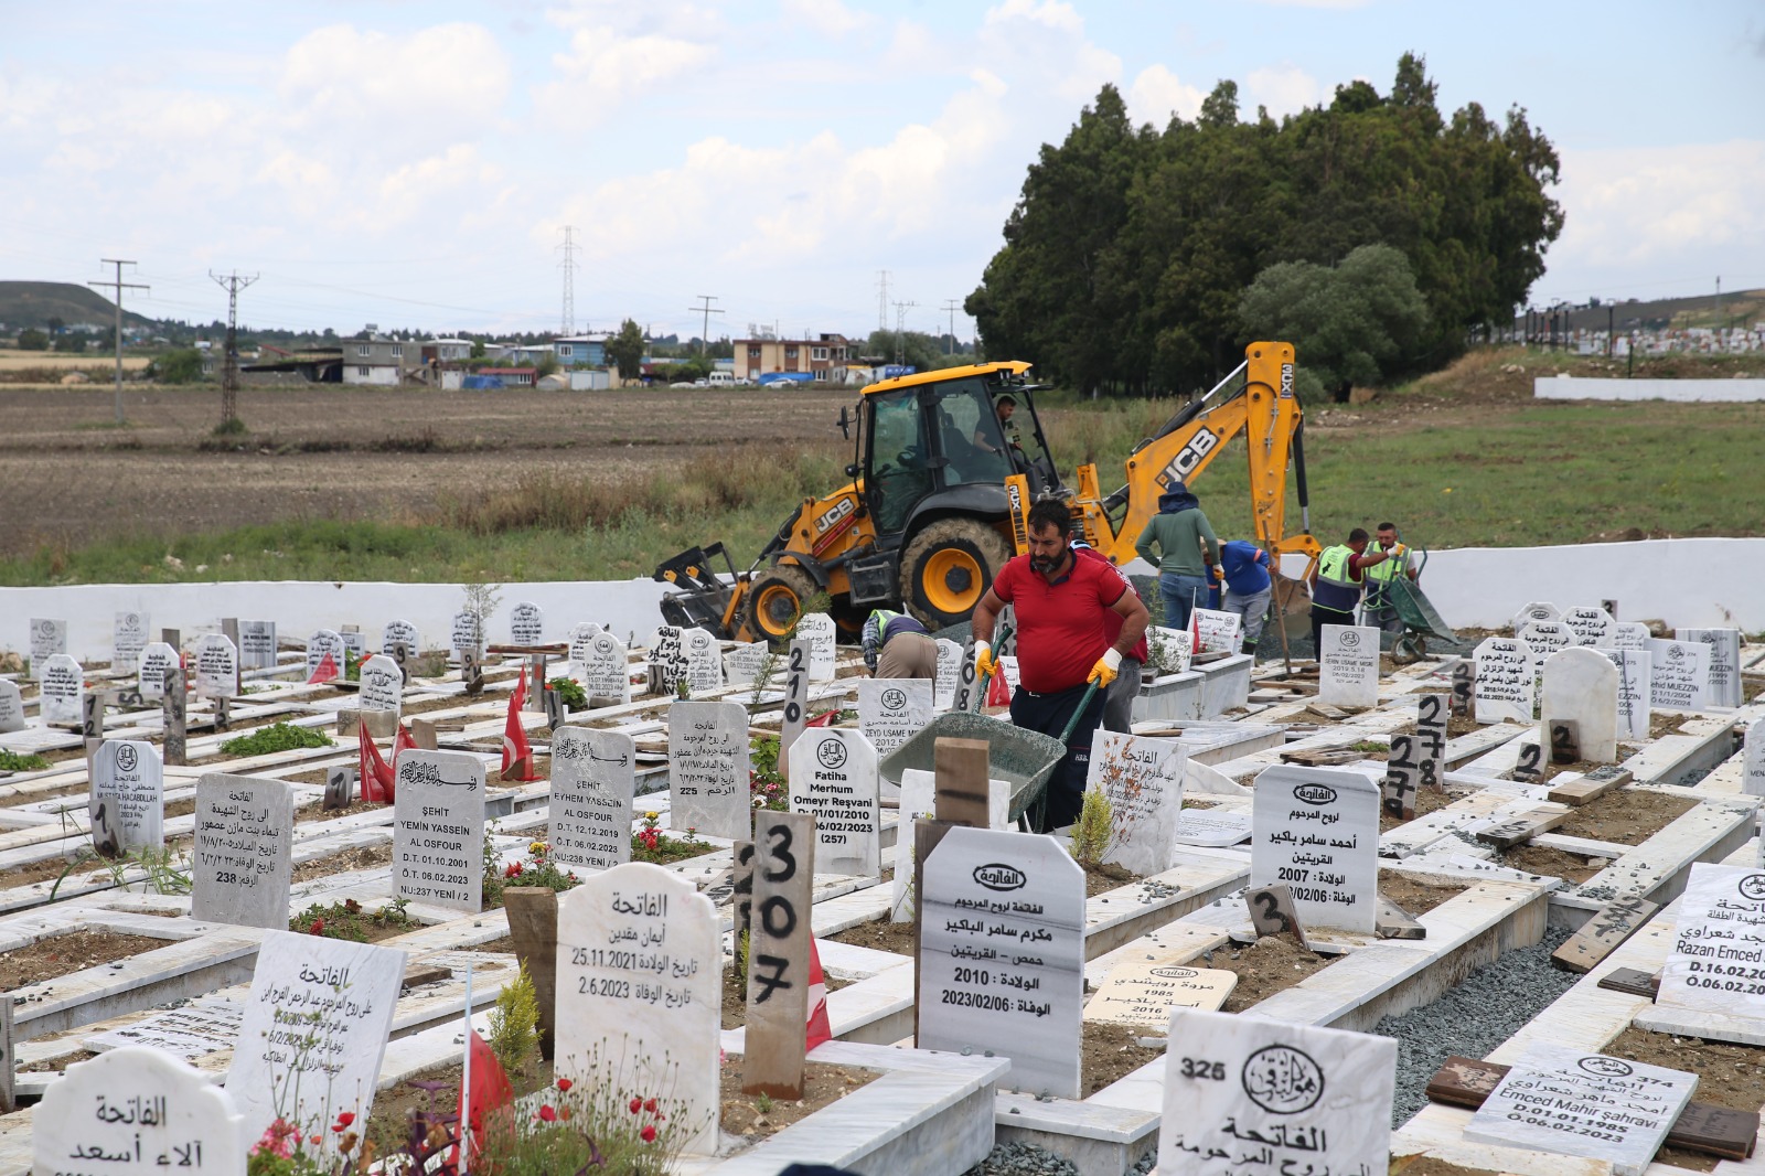
[[(1765, 367), (1765, 360), (1756, 364)], [(1306, 417), (1311, 531), (1331, 542), (1391, 519), (1419, 547), (1537, 546), (1664, 535), (1758, 535), (1765, 404), (1573, 404), (1530, 399), (1539, 369), (1599, 360), (1484, 351), (1368, 404)], [(1620, 369), (1622, 371), (1622, 369)], [(1739, 371), (1719, 362), (1719, 374)], [(1641, 373), (1638, 373), (1641, 374)], [(1758, 373), (1765, 374), (1765, 373)], [(1105, 489), (1170, 404), (1048, 408), (1066, 473), (1096, 459)], [(808, 494), (844, 475), (828, 452), (752, 452), (595, 482), (517, 479), (420, 523), (316, 519), (221, 533), (39, 547), (0, 562), (4, 584), (208, 579), (521, 581), (648, 576), (722, 539), (747, 565)], [(1243, 443), (1195, 482), (1221, 537), (1244, 537)], [(1299, 530), (1288, 500), (1288, 531)]]

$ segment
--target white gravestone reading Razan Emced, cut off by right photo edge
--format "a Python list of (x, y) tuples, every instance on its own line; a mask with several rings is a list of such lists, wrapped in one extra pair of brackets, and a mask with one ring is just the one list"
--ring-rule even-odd
[(1765, 871), (1693, 863), (1656, 1001), (1765, 1022)]

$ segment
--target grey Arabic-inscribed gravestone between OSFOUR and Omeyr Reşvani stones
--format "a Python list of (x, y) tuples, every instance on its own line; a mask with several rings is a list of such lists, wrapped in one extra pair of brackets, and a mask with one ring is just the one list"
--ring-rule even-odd
[(669, 828), (750, 835), (748, 712), (741, 703), (674, 703), (667, 712)]

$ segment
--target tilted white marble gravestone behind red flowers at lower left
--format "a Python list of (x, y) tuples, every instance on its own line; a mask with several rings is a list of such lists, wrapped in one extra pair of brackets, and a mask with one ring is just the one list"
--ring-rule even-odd
[(397, 948), (267, 932), (226, 1075), (245, 1135), (284, 1118), (330, 1150), (341, 1112), (365, 1123), (402, 984)]

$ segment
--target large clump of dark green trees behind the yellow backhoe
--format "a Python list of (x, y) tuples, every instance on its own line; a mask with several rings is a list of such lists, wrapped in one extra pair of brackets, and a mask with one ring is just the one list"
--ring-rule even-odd
[(1308, 387), (1440, 367), (1513, 320), (1562, 233), (1557, 152), (1523, 108), (1451, 120), (1423, 58), (1276, 122), (1221, 81), (1193, 122), (1135, 125), (1115, 87), (1043, 145), (965, 300), (990, 358), (1080, 392), (1193, 392), (1255, 337)]

